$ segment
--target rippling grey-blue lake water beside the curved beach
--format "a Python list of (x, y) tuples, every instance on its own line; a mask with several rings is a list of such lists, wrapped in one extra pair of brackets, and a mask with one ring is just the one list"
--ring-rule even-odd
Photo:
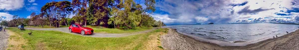
[(167, 25), (181, 34), (220, 46), (246, 46), (296, 31), (299, 25), (286, 24), (214, 24)]

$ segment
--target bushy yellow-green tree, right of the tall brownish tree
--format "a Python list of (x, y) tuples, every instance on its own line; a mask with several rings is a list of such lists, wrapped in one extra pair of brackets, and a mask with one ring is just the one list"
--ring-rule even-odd
[(141, 5), (136, 4), (133, 0), (120, 0), (116, 7), (113, 8), (110, 24), (122, 26), (122, 28), (135, 28), (141, 21)]

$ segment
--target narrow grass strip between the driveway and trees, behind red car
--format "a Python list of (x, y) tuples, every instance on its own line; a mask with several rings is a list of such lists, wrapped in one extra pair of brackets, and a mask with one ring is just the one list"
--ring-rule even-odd
[(132, 33), (132, 32), (151, 29), (151, 27), (137, 27), (136, 29), (123, 30), (117, 28), (106, 28), (106, 27), (101, 28), (101, 26), (96, 26), (96, 25), (87, 25), (87, 27), (94, 29), (95, 33)]

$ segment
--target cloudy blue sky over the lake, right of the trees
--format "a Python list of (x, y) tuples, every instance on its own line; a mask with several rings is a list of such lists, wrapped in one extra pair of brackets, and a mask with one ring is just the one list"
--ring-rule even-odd
[(298, 23), (299, 0), (156, 0), (166, 24)]

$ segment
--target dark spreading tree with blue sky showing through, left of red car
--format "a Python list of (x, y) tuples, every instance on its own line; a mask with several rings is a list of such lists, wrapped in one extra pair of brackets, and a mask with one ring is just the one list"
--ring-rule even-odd
[(59, 27), (59, 22), (61, 21), (61, 19), (63, 19), (63, 21), (65, 22), (64, 18), (66, 18), (67, 15), (70, 16), (71, 10), (71, 2), (69, 1), (53, 1), (46, 3), (41, 8), (41, 12), (43, 13), (43, 16), (45, 16), (49, 21), (50, 27), (54, 24), (56, 27)]

